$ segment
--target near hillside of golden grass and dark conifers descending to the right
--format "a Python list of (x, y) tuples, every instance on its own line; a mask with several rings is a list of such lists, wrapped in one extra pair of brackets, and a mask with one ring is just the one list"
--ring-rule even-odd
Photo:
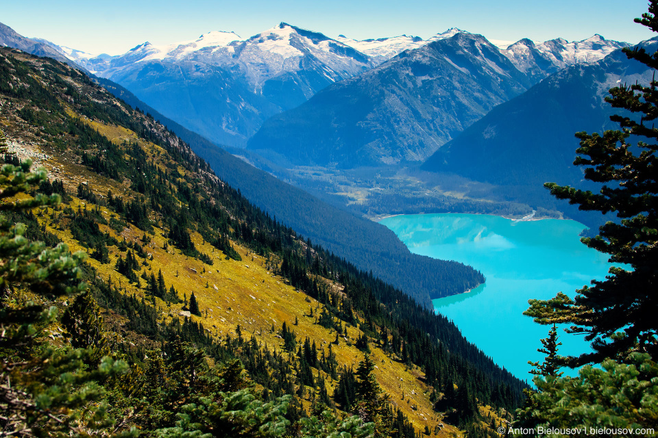
[[(253, 207), (173, 133), (77, 70), (0, 49), (0, 101), (14, 153), (3, 159), (32, 157), (51, 173), (37, 192), (63, 199), (10, 220), (27, 223), (29, 239), (90, 254), (84, 279), (105, 316), (89, 296), (32, 296), (82, 322), (39, 327), (21, 354), (90, 347), (90, 365), (112, 355), (127, 366), (100, 381), (119, 421), (85, 427), (154, 436), (194, 403), (215, 411), (186, 411), (197, 416), (181, 433), (243, 430), (247, 420), (222, 416), (235, 406), (279, 434), (308, 436), (301, 419), (329, 408), (360, 412), (379, 436), (425, 426), (461, 435), (448, 423), (484, 436), (518, 406), (524, 385), (446, 318)], [(3, 309), (22, 293), (4, 290)], [(374, 392), (363, 381), (376, 381)], [(258, 411), (259, 400), (271, 404)]]

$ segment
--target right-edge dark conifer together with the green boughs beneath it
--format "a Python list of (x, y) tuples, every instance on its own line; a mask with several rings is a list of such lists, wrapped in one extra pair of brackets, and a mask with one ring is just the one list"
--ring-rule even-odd
[[(635, 21), (658, 31), (657, 12), (658, 0), (652, 0), (648, 13)], [(626, 55), (658, 68), (658, 52), (627, 49)], [(524, 408), (517, 411), (517, 428), (586, 428), (591, 435), (605, 435), (596, 432), (605, 427), (626, 435), (624, 429), (658, 427), (658, 129), (653, 126), (658, 81), (654, 76), (648, 86), (624, 85), (610, 93), (607, 101), (630, 114), (611, 117), (622, 129), (602, 136), (576, 134), (581, 147), (574, 164), (591, 166), (585, 169), (585, 178), (603, 183), (600, 192), (547, 186), (581, 209), (616, 212), (620, 222), (607, 222), (598, 236), (583, 242), (609, 254), (610, 261), (628, 266), (610, 268), (605, 281), (592, 281), (592, 287), (578, 290), (574, 300), (560, 293), (551, 300), (530, 301), (526, 314), (541, 324), (573, 324), (570, 331), (586, 333), (594, 352), (559, 359), (554, 326), (542, 340), (547, 358), (533, 378), (537, 392), (528, 391)], [(631, 136), (643, 140), (632, 146), (627, 142)], [(585, 365), (576, 377), (560, 377), (561, 362), (598, 362), (600, 368)]]

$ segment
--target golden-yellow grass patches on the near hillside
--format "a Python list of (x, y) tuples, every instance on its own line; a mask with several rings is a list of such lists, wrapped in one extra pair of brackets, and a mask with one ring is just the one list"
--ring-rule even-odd
[[(139, 139), (134, 132), (123, 127), (103, 125), (88, 118), (81, 118), (81, 120), (93, 126), (114, 143), (138, 142), (149, 159), (164, 166), (167, 153), (160, 146)], [(5, 119), (2, 121), (5, 126), (16, 123), (16, 120)], [(17, 141), (20, 139), (14, 140), (16, 141), (13, 144), (18, 144)], [(88, 187), (99, 197), (106, 196), (108, 190), (123, 196), (124, 201), (135, 195), (130, 190), (130, 181), (117, 183), (117, 181), (100, 177), (84, 166), (72, 162), (70, 155), (67, 156), (66, 153), (58, 153), (49, 149), (47, 144), (23, 141), (21, 148), (14, 149), (20, 149), (19, 152), (25, 157), (29, 155), (42, 157), (39, 164), (49, 170), (52, 179), (64, 181), (69, 192), (75, 193), (77, 185), (82, 182), (88, 183)], [(178, 170), (184, 177), (191, 177), (191, 175), (185, 175), (184, 169), (179, 168)], [(191, 178), (187, 181), (192, 183)], [(84, 201), (80, 201), (75, 196), (70, 206), (73, 209), (87, 208)], [(104, 207), (101, 207), (101, 214), (107, 220), (115, 216), (112, 211)], [(43, 209), (38, 217), (41, 224), (45, 224), (47, 231), (58, 235), (66, 244), (69, 244), (72, 251), (88, 249), (81, 246), (80, 242), (73, 240), (69, 231), (63, 231), (62, 227), (53, 221), (55, 217), (53, 209)], [(295, 331), (297, 340), (302, 339), (303, 341), (308, 336), (312, 342), (315, 341), (317, 344), (319, 354), (321, 354), (321, 349), (328, 352), (329, 344), (334, 341), (336, 333), (331, 329), (314, 324), (314, 318), (309, 316), (310, 309), (317, 314), (323, 306), (303, 292), (295, 290), (284, 279), (269, 272), (265, 268), (265, 261), (262, 257), (249, 253), (247, 248), (234, 244), (243, 260), (226, 259), (221, 251), (204, 242), (198, 233), (193, 233), (193, 242), (197, 249), (212, 258), (212, 266), (206, 265), (202, 261), (182, 255), (180, 250), (171, 245), (167, 246), (165, 237), (167, 231), (159, 226), (158, 218), (152, 217), (152, 219), (154, 220), (154, 233), (148, 236), (150, 238), (148, 244), (144, 244), (141, 240), (145, 234), (144, 231), (137, 229), (132, 224), (129, 224), (120, 233), (106, 225), (101, 224), (100, 227), (101, 231), (109, 233), (117, 240), (139, 242), (144, 246), (149, 256), (143, 259), (142, 268), (147, 275), (150, 276), (152, 272), (157, 277), (158, 271), (161, 270), (167, 287), (173, 285), (181, 298), (183, 294), (189, 298), (194, 293), (203, 316), (202, 318), (196, 316), (191, 318), (200, 320), (211, 335), (221, 337), (230, 334), (234, 336), (237, 326), (240, 326), (243, 336), (254, 335), (261, 346), (267, 345), (270, 349), (276, 348), (283, 351), (283, 341), (278, 335), (278, 331), (280, 331), (282, 323), (287, 322), (288, 326)], [(123, 293), (145, 296), (143, 289), (129, 283), (114, 269), (117, 259), (121, 255), (117, 247), (110, 246), (108, 249), (110, 263), (101, 264), (91, 258), (88, 259), (89, 263), (97, 269), (103, 279), (111, 277), (112, 283), (120, 285)], [(182, 311), (182, 304), (169, 305), (157, 298), (156, 306), (162, 321), (179, 318)], [(295, 320), (298, 322), (296, 326), (293, 325)], [(362, 332), (354, 326), (348, 326), (347, 330), (348, 336), (344, 339), (341, 338), (338, 345), (332, 345), (332, 350), (337, 356), (339, 364), (345, 364), (348, 367), (352, 365), (356, 368), (356, 365), (363, 359), (363, 353), (353, 344), (354, 340), (362, 335)], [(435, 429), (438, 430), (438, 436), (463, 435), (458, 429), (443, 423), (441, 416), (432, 410), (432, 403), (429, 400), (432, 388), (424, 384), (424, 373), (421, 370), (407, 368), (403, 363), (395, 360), (396, 358), (387, 356), (374, 344), (371, 344), (370, 347), (371, 358), (377, 365), (378, 382), (382, 389), (389, 394), (391, 403), (402, 410), (418, 431), (422, 431), (425, 426), (428, 426), (432, 435)], [(317, 373), (317, 370), (315, 372)], [(328, 376), (326, 376), (326, 381), (330, 386), (329, 394), (332, 394), (337, 381), (332, 381)], [(302, 404), (308, 408), (310, 401), (302, 400)], [(493, 417), (498, 422), (496, 413), (493, 413)]]

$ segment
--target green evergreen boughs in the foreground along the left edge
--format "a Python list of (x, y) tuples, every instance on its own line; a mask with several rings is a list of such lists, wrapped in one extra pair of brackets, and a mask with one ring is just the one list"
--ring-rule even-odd
[[(5, 146), (0, 131), (0, 152)], [(25, 211), (56, 205), (59, 196), (36, 194), (46, 172), (30, 172), (31, 163), (5, 164), (0, 168), (0, 211)], [(1, 435), (13, 437), (95, 435), (112, 420), (100, 402), (97, 384), (125, 370), (125, 363), (103, 358), (98, 369), (86, 369), (87, 350), (56, 350), (44, 341), (45, 326), (53, 322), (56, 308), (45, 309), (40, 298), (84, 289), (76, 279), (83, 254), (69, 253), (64, 244), (47, 248), (25, 237), (24, 224), (0, 216), (0, 417)], [(26, 292), (30, 292), (29, 298)], [(106, 430), (106, 435), (113, 435)]]

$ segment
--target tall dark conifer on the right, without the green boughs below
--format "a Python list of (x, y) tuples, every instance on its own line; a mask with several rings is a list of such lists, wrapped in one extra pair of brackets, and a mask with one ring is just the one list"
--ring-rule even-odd
[[(658, 2), (637, 23), (658, 31)], [(631, 60), (656, 70), (658, 52), (624, 49)], [(622, 115), (611, 116), (617, 131), (576, 134), (576, 166), (585, 166), (585, 178), (602, 186), (598, 193), (546, 183), (557, 198), (568, 199), (582, 210), (616, 213), (594, 238), (583, 243), (610, 255), (614, 266), (603, 281), (592, 281), (576, 291), (574, 299), (560, 293), (550, 300), (531, 300), (526, 315), (540, 324), (572, 324), (571, 333), (584, 333), (594, 352), (572, 358), (572, 366), (600, 362), (607, 357), (624, 361), (631, 352), (658, 357), (658, 80), (612, 88), (606, 98)], [(637, 139), (633, 146), (630, 138)]]

